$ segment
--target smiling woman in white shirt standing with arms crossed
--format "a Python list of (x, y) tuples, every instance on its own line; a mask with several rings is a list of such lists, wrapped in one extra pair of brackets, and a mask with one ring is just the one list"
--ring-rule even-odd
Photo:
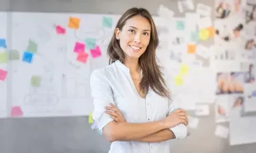
[(109, 153), (169, 153), (186, 137), (188, 119), (156, 64), (158, 35), (150, 13), (131, 8), (118, 20), (108, 66), (91, 73), (93, 119), (111, 141)]

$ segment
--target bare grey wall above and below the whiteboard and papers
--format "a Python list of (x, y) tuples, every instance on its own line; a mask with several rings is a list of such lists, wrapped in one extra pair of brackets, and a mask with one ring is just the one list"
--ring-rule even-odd
[[(194, 0), (196, 1), (196, 0)], [(197, 0), (213, 6), (213, 0)], [(122, 14), (129, 7), (145, 7), (156, 15), (162, 3), (177, 12), (176, 0), (1, 0), (1, 11), (18, 12), (78, 12), (93, 14)], [(177, 14), (179, 16), (179, 14)], [(249, 153), (256, 144), (229, 146), (228, 139), (214, 136), (214, 105), (210, 116), (200, 118), (199, 128), (191, 130), (186, 139), (171, 141), (176, 153)], [(193, 116), (193, 112), (188, 112)], [(91, 131), (87, 117), (24, 118), (0, 120), (1, 153), (102, 153), (109, 145), (104, 137)]]

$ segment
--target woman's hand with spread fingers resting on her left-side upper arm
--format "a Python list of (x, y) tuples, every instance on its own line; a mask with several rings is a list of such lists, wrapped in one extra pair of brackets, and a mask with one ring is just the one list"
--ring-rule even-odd
[(106, 106), (106, 114), (109, 114), (115, 122), (126, 122), (121, 111), (113, 103), (110, 103), (110, 105), (110, 107)]

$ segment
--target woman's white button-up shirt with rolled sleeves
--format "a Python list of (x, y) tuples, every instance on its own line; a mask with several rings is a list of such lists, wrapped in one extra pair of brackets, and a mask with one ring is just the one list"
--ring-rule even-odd
[[(139, 96), (130, 77), (130, 70), (120, 61), (115, 61), (104, 68), (91, 73), (91, 95), (94, 99), (93, 119), (100, 131), (113, 119), (105, 114), (109, 103), (116, 105), (126, 122), (142, 123), (163, 120), (174, 109), (179, 101), (172, 96), (171, 101), (160, 97), (150, 89), (145, 99)], [(186, 137), (187, 127), (178, 124), (171, 128), (176, 139)], [(169, 141), (146, 143), (139, 141), (114, 141), (109, 153), (170, 153)]]

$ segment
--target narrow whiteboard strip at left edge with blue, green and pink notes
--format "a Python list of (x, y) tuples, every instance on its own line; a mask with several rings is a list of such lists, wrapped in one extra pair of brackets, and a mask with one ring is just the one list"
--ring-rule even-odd
[(0, 13), (0, 118), (7, 117), (7, 13)]

